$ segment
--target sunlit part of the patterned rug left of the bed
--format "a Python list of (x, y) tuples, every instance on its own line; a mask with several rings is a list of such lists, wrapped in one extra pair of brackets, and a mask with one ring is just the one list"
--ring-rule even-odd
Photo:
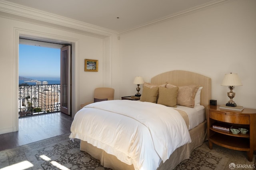
[(70, 141), (69, 135), (1, 151), (0, 170), (110, 170), (80, 151), (80, 140)]

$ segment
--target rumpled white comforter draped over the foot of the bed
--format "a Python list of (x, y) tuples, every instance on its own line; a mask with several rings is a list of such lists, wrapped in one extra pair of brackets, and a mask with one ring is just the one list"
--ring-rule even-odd
[(115, 155), (135, 170), (156, 170), (172, 152), (190, 143), (184, 119), (172, 107), (149, 102), (110, 100), (79, 110), (70, 138)]

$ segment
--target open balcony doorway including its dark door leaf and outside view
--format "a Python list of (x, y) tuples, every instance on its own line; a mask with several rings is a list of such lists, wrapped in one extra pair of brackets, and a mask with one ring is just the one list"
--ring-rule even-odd
[(70, 49), (70, 45), (20, 39), (19, 117), (63, 111), (63, 106), (70, 115), (70, 75), (66, 73), (71, 60), (66, 47)]

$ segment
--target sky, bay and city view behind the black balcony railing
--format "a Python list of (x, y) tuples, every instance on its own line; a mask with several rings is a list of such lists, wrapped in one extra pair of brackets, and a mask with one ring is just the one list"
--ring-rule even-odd
[(19, 117), (60, 111), (60, 49), (20, 44), (19, 75)]

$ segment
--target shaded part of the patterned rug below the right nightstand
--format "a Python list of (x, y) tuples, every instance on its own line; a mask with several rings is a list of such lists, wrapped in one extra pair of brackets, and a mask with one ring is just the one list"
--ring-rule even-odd
[(256, 152), (253, 161), (247, 160), (247, 152), (227, 149), (213, 144), (209, 149), (208, 141), (192, 151), (190, 158), (182, 161), (175, 170), (255, 170)]

